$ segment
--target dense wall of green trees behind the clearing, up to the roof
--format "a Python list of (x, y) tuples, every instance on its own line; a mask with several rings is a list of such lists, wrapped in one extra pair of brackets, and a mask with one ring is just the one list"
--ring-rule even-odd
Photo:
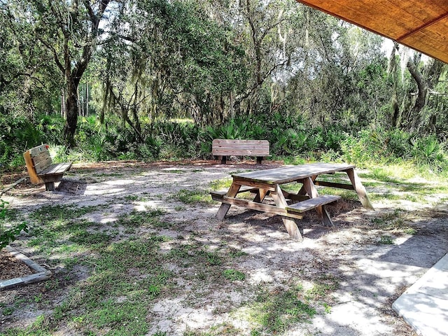
[(217, 136), (404, 155), (448, 134), (447, 66), (293, 0), (9, 0), (0, 20), (2, 162), (40, 141), (97, 160), (207, 156)]

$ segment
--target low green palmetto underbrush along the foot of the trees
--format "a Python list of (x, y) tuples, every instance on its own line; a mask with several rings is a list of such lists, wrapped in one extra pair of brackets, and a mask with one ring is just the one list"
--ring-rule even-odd
[[(51, 125), (51, 127), (48, 127)], [(97, 162), (106, 160), (213, 159), (213, 139), (267, 139), (273, 159), (286, 163), (304, 161), (350, 162), (359, 167), (408, 162), (421, 171), (447, 174), (446, 145), (435, 135), (419, 136), (401, 130), (361, 130), (349, 134), (341, 127), (310, 127), (302, 118), (267, 120), (266, 116), (236, 118), (217, 127), (197, 127), (192, 120), (160, 120), (144, 124), (140, 142), (135, 134), (111, 118), (108, 127), (96, 116), (81, 118), (76, 134), (78, 146), (66, 148), (59, 140), (64, 125), (59, 116), (43, 116), (38, 125), (25, 119), (0, 118), (0, 126), (10, 130), (0, 140), (1, 169), (25, 165), (23, 151), (38, 144), (50, 144), (56, 161)], [(26, 134), (22, 136), (21, 134)]]

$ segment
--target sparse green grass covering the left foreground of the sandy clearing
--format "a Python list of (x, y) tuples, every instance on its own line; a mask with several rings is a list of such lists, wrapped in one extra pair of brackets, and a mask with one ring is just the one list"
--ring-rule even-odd
[[(167, 238), (145, 235), (114, 241), (116, 235), (110, 230), (79, 218), (94, 209), (44, 207), (32, 214), (42, 223), (34, 228), (29, 246), (46, 255), (57, 255), (55, 262), (64, 264), (66, 272), (75, 265), (83, 265), (88, 276), (71, 287), (64, 301), (52, 309), (50, 318), (38, 318), (23, 330), (6, 330), (5, 335), (52, 335), (51, 330), (57, 325), (74, 325), (80, 335), (145, 335), (148, 332), (148, 307), (172, 288), (173, 274), (162, 266), (167, 257), (160, 253), (160, 243)], [(162, 214), (165, 211), (160, 209), (135, 211), (118, 221), (137, 230), (148, 223), (158, 225)], [(66, 279), (69, 278), (67, 274)], [(45, 283), (49, 293), (60, 286), (57, 279)], [(43, 295), (34, 295), (30, 300), (45, 304)], [(8, 307), (2, 312), (8, 314)]]

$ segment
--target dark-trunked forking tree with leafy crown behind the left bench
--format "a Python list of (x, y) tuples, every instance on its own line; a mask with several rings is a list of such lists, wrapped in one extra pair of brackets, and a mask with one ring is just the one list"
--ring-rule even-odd
[[(102, 41), (104, 31), (99, 25), (109, 2), (11, 0), (1, 3), (2, 16), (11, 27), (15, 40), (26, 52), (40, 48), (47, 61), (52, 57), (62, 74), (66, 89), (64, 138), (69, 146), (73, 146), (78, 121), (78, 85), (92, 52)], [(13, 27), (18, 29), (13, 30)], [(35, 66), (46, 66), (39, 64), (43, 59), (33, 57), (33, 61), (37, 61)]]

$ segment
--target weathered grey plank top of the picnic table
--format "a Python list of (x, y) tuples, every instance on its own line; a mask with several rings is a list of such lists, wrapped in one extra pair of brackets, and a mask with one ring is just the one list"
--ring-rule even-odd
[(267, 184), (283, 184), (320, 174), (331, 174), (353, 169), (354, 165), (333, 164), (333, 163), (309, 163), (305, 165), (285, 166), (273, 169), (255, 170), (232, 174), (233, 179), (260, 182)]

